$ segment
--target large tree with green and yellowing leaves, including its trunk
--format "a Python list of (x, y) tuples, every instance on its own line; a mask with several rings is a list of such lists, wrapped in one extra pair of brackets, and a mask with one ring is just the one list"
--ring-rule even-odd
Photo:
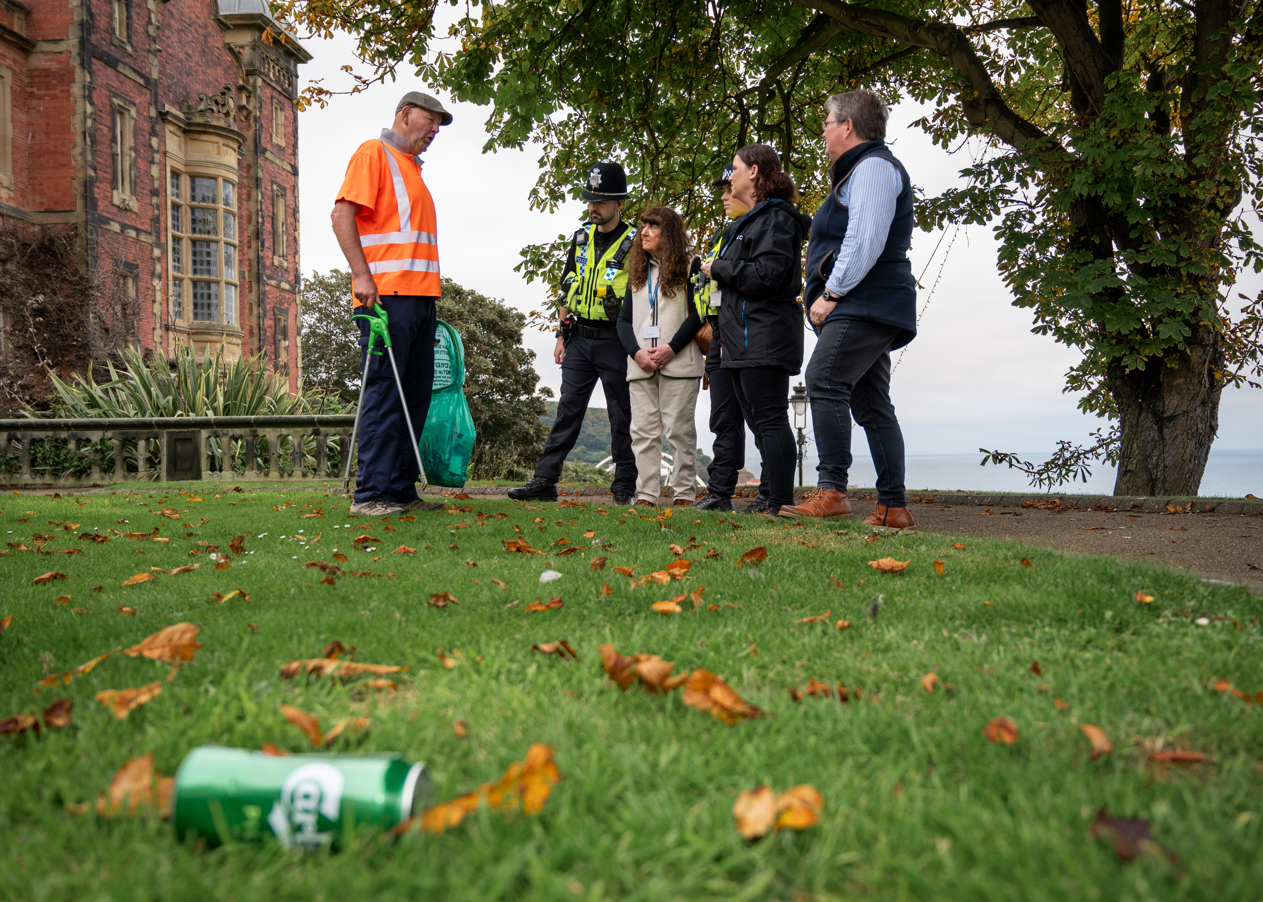
[[(1115, 421), (1087, 448), (1063, 446), (1043, 469), (1052, 481), (1105, 455), (1120, 494), (1196, 491), (1223, 388), (1263, 375), (1263, 297), (1231, 291), (1263, 269), (1248, 219), (1260, 201), (1258, 0), (501, 0), (467, 8), (451, 53), (429, 44), (433, 0), (278, 9), (359, 38), (374, 71), (356, 90), (403, 67), (489, 104), (489, 150), (542, 149), (541, 208), (614, 158), (638, 198), (707, 231), (719, 212), (705, 182), (760, 140), (810, 211), (829, 93), (863, 85), (932, 105), (926, 131), (985, 153), (918, 205), (921, 226), (990, 224), (1014, 303), (1082, 352), (1066, 388)], [(561, 243), (525, 248), (520, 269), (556, 284)]]

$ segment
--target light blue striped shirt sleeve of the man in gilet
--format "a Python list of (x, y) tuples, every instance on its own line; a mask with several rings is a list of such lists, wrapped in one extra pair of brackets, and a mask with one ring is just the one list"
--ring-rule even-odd
[(849, 212), (846, 238), (825, 283), (834, 294), (846, 294), (858, 286), (882, 255), (901, 191), (903, 177), (898, 167), (875, 157), (861, 160), (842, 183), (839, 200)]

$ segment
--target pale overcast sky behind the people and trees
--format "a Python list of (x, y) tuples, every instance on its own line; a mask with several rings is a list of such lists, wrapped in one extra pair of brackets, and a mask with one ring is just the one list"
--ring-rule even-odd
[[(338, 67), (352, 61), (349, 38), (304, 40), (314, 54), (301, 67), (301, 82), (323, 78), (346, 85)], [(400, 78), (355, 96), (335, 97), (326, 109), (299, 114), (301, 263), (304, 274), (346, 268), (330, 230), (328, 213), (351, 153), (376, 138), (393, 120), (394, 105), (412, 90), (438, 93), (421, 82)], [(527, 208), (527, 195), (538, 174), (538, 152), (482, 154), (482, 123), (490, 107), (455, 104), (438, 93), (455, 120), (440, 131), (424, 155), (424, 178), (438, 212), (440, 259), (443, 275), (466, 288), (501, 298), (522, 311), (539, 308), (544, 289), (528, 286), (513, 272), (518, 250), (571, 232), (585, 213), (573, 201), (548, 215)], [(909, 123), (921, 107), (901, 105), (890, 116), (887, 138), (913, 183), (935, 195), (957, 183), (969, 150), (949, 155)], [(812, 212), (812, 211), (806, 211)], [(908, 454), (969, 454), (979, 447), (1037, 455), (1058, 438), (1082, 441), (1101, 424), (1076, 409), (1077, 397), (1063, 394), (1063, 376), (1077, 354), (1052, 339), (1031, 334), (1031, 313), (1012, 306), (995, 268), (995, 241), (984, 227), (913, 234), (914, 274), (925, 270), (918, 304), (925, 306), (918, 337), (907, 347), (892, 379), (892, 395), (903, 426)], [(950, 254), (947, 253), (951, 244)], [(938, 246), (937, 254), (931, 254)], [(946, 260), (946, 263), (943, 263)], [(927, 268), (928, 264), (928, 268)], [(941, 267), (941, 278), (940, 278)], [(1260, 280), (1243, 280), (1250, 293)], [(933, 288), (932, 294), (931, 287)], [(927, 303), (928, 301), (928, 303)], [(554, 392), (561, 373), (552, 363), (553, 339), (527, 332), (537, 352), (541, 383)], [(807, 356), (813, 337), (807, 334)], [(801, 375), (792, 384), (801, 382)], [(604, 407), (600, 389), (592, 397)], [(698, 398), (698, 442), (711, 446), (709, 398)], [(856, 431), (863, 455), (863, 437)], [(1263, 392), (1230, 390), (1223, 397), (1216, 450), (1263, 448)]]

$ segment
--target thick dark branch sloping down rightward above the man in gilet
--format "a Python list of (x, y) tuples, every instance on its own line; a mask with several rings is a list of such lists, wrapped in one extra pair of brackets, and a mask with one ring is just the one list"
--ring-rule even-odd
[(794, 3), (825, 13), (853, 32), (926, 47), (938, 53), (973, 88), (962, 91), (960, 101), (966, 121), (974, 128), (988, 129), (1018, 150), (1033, 140), (1047, 138), (1037, 125), (1009, 109), (1000, 92), (995, 90), (986, 64), (965, 33), (955, 24), (908, 19), (884, 9), (837, 3), (837, 0), (794, 0)]

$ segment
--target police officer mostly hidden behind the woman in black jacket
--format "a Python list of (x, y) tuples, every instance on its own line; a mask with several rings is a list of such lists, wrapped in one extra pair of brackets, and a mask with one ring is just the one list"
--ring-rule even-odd
[[(706, 249), (706, 255), (698, 260), (714, 260), (724, 245), (724, 240), (736, 225), (736, 221), (750, 212), (750, 208), (733, 197), (733, 164), (724, 167), (724, 174), (715, 182), (716, 188), (724, 189), (724, 212), (733, 222), (727, 227), (719, 230), (714, 240)], [(710, 325), (711, 344), (706, 351), (706, 383), (711, 393), (711, 432), (715, 433), (714, 457), (707, 470), (706, 498), (697, 503), (703, 510), (731, 510), (733, 491), (736, 489), (736, 474), (745, 466), (745, 423), (750, 414), (738, 403), (736, 393), (733, 390), (733, 374), (730, 370), (720, 369), (720, 335), (719, 335), (719, 308), (724, 299), (719, 287), (707, 279), (700, 265), (695, 267), (693, 278), (697, 288), (693, 298), (697, 303), (697, 316), (702, 322)], [(753, 431), (753, 428), (751, 428)], [(755, 436), (758, 433), (755, 432)], [(764, 505), (767, 483), (759, 486), (759, 498), (751, 507)]]

